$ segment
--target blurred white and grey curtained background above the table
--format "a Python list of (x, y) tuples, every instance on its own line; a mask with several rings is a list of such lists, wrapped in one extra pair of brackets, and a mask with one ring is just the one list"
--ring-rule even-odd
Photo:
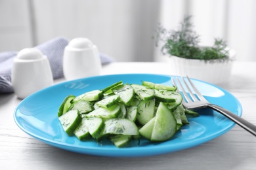
[(203, 45), (224, 39), (238, 61), (256, 61), (254, 0), (0, 0), (0, 52), (55, 37), (87, 37), (116, 61), (162, 61), (152, 36), (192, 15)]

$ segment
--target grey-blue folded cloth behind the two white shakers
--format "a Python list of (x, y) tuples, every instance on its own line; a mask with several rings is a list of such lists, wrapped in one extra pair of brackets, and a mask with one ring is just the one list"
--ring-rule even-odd
[[(47, 56), (51, 65), (53, 78), (63, 77), (62, 61), (64, 48), (68, 45), (68, 40), (64, 37), (57, 37), (43, 44), (35, 46)], [(12, 93), (13, 88), (11, 84), (11, 69), (13, 58), (16, 57), (18, 52), (0, 52), (0, 93)], [(100, 60), (102, 65), (114, 61), (106, 54), (100, 53)]]

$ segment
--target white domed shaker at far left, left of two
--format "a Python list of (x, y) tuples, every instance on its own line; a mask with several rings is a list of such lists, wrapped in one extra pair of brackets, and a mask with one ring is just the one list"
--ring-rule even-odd
[(24, 99), (53, 84), (53, 74), (47, 56), (36, 48), (25, 48), (14, 58), (12, 86), (18, 98)]

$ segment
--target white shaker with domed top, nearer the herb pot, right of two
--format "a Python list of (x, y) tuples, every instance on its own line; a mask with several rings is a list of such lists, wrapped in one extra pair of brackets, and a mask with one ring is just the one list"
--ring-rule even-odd
[(87, 38), (75, 38), (64, 50), (63, 73), (66, 80), (100, 75), (102, 65), (97, 47)]

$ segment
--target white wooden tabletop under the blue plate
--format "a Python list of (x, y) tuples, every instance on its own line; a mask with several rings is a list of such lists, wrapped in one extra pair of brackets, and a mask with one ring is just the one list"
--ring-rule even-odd
[[(168, 74), (167, 63), (111, 63), (102, 75)], [(221, 86), (238, 98), (242, 117), (256, 124), (256, 63), (235, 62), (232, 78)], [(169, 73), (171, 75), (171, 73)], [(61, 82), (64, 79), (56, 80)], [(234, 126), (194, 148), (139, 158), (107, 158), (68, 152), (33, 139), (16, 126), (14, 93), (0, 94), (0, 169), (256, 169), (256, 137)]]

